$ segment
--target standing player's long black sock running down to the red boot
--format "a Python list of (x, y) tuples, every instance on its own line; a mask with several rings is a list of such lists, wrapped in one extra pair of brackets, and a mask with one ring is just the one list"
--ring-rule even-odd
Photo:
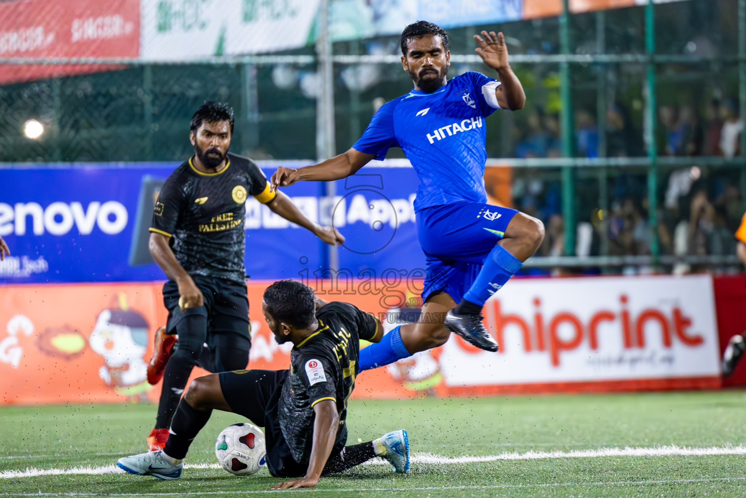
[(179, 404), (181, 394), (184, 393), (189, 375), (202, 352), (204, 338), (207, 335), (207, 317), (189, 315), (179, 320), (176, 327), (179, 340), (176, 350), (166, 364), (163, 371), (163, 385), (160, 390), (158, 414), (155, 419), (155, 429), (168, 428), (174, 411)]

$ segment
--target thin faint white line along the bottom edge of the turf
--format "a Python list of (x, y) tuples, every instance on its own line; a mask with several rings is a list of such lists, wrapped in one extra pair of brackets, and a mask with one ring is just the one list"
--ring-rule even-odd
[[(706, 482), (743, 482), (746, 477), (704, 477), (701, 479), (656, 479), (653, 481), (602, 481), (602, 482), (542, 482), (539, 484), (503, 484), (484, 486), (421, 486), (412, 488), (304, 488), (283, 490), (242, 490), (242, 491), (179, 491), (177, 493), (107, 493), (107, 497), (184, 497), (184, 496), (213, 496), (236, 494), (267, 494), (267, 493), (363, 493), (366, 491), (380, 494), (381, 491), (457, 491), (479, 489), (516, 489), (516, 488), (570, 488), (572, 486), (639, 486), (639, 485), (692, 485)], [(101, 493), (0, 493), (0, 497), (101, 497)]]

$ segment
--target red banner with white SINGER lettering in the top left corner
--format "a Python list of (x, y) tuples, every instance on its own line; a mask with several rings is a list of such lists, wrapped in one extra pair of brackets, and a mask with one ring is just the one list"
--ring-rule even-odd
[[(138, 57), (140, 0), (0, 3), (0, 58)], [(0, 65), (0, 84), (108, 71), (103, 65)]]

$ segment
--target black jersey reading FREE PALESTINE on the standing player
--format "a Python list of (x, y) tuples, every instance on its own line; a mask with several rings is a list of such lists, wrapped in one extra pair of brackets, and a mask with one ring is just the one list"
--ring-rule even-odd
[(223, 169), (206, 173), (189, 158), (163, 184), (150, 231), (172, 237), (186, 273), (244, 282), (246, 197), (266, 203), (276, 195), (251, 159), (228, 154)]

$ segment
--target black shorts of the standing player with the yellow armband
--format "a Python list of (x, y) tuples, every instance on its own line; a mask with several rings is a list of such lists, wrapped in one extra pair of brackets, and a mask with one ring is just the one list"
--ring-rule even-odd
[(175, 281), (163, 284), (163, 304), (169, 310), (166, 332), (175, 333), (182, 317), (201, 314), (207, 317), (207, 344), (209, 346), (251, 346), (251, 325), (248, 320), (246, 284), (201, 275), (192, 279), (201, 290), (204, 306), (179, 309), (179, 290)]

